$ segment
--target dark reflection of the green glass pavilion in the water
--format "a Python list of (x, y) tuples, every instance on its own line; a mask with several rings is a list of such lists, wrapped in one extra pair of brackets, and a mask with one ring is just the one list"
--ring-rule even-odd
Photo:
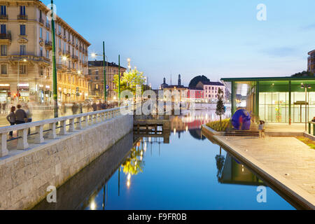
[[(224, 160), (224, 156), (217, 156), (218, 166), (218, 181), (220, 183), (241, 184), (250, 186), (264, 186), (260, 179), (255, 176), (244, 165), (241, 165), (237, 160), (227, 154)], [(224, 162), (223, 167), (220, 166), (221, 162)]]

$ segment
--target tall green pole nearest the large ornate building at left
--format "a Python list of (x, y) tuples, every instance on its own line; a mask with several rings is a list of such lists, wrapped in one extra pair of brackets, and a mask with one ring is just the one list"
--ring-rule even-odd
[(55, 20), (54, 20), (54, 1), (53, 0), (51, 0), (50, 9), (51, 9), (51, 30), (52, 30), (52, 95), (54, 99), (54, 115), (55, 115), (55, 118), (58, 118)]

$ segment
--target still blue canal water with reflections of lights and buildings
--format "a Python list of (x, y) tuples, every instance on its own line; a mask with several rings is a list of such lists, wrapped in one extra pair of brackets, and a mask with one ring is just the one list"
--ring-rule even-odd
[[(295, 209), (201, 135), (214, 111), (172, 118), (163, 137), (128, 134), (35, 209)], [(258, 186), (267, 202), (258, 203)]]

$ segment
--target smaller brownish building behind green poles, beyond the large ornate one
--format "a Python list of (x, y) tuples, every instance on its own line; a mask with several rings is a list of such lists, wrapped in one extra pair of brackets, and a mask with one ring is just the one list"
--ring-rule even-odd
[[(96, 99), (104, 99), (104, 66), (103, 61), (89, 61), (88, 63), (89, 76), (89, 96)], [(116, 85), (113, 83), (114, 76), (118, 74), (119, 66), (114, 62), (106, 62), (106, 85), (107, 99), (114, 101), (118, 99), (118, 94), (115, 92)], [(123, 76), (127, 69), (120, 66), (120, 75)]]

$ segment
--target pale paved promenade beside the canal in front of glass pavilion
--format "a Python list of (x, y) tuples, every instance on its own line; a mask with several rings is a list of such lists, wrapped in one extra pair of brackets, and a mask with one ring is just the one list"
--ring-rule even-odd
[(294, 137), (215, 136), (248, 162), (283, 183), (315, 208), (315, 151)]

